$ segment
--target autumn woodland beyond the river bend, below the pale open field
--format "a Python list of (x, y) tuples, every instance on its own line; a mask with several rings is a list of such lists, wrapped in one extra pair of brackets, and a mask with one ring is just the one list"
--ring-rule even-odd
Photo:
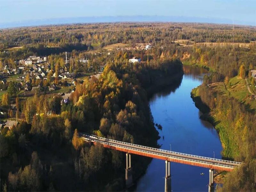
[(226, 76), (234, 77), (239, 73), (241, 65), (244, 66), (245, 74), (249, 69), (256, 66), (256, 44), (251, 44), (249, 48), (235, 46), (234, 50), (231, 44), (226, 46), (179, 46), (172, 44), (161, 49), (150, 50), (158, 58), (180, 58), (192, 64), (205, 66), (214, 70), (208, 78), (208, 83), (224, 81)]

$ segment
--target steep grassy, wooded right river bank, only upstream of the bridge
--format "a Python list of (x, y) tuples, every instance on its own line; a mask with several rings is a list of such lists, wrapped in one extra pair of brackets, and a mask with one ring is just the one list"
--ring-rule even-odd
[(239, 100), (219, 94), (202, 84), (191, 92), (196, 107), (218, 131), (223, 146), (222, 156), (243, 161), (255, 156), (255, 115)]

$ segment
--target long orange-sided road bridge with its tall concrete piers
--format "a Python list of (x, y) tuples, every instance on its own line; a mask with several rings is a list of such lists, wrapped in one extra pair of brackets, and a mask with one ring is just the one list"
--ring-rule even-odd
[(132, 184), (132, 165), (131, 154), (147, 156), (151, 158), (165, 160), (165, 191), (171, 191), (170, 162), (194, 165), (198, 167), (209, 168), (209, 191), (213, 190), (213, 170), (232, 171), (235, 167), (241, 165), (240, 162), (227, 161), (222, 159), (196, 156), (174, 151), (168, 151), (158, 148), (151, 148), (133, 143), (127, 143), (118, 140), (98, 137), (86, 133), (79, 133), (79, 137), (93, 144), (100, 143), (105, 148), (126, 152), (126, 185)]

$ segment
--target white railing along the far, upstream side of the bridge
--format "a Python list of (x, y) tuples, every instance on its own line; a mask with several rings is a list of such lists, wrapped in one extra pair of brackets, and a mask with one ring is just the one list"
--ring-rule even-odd
[(152, 148), (152, 147), (147, 147), (147, 146), (143, 146), (143, 145), (137, 145), (137, 144), (127, 143), (127, 142), (118, 141), (118, 140), (112, 140), (112, 139), (108, 139), (108, 138), (104, 138), (104, 137), (98, 137), (96, 135), (90, 135), (90, 134), (86, 134), (86, 133), (82, 133), (82, 135), (85, 135), (86, 137), (90, 137), (92, 139), (107, 140), (107, 141), (112, 141), (112, 142), (121, 143), (121, 144), (125, 144), (125, 145), (130, 145), (130, 146), (136, 146), (136, 147), (140, 147), (140, 148), (147, 148), (147, 149), (151, 149), (151, 150), (161, 151), (161, 152), (165, 152), (165, 153), (177, 154), (177, 155), (194, 157), (194, 158), (201, 158), (201, 159), (212, 160), (212, 161), (219, 161), (219, 162), (222, 162), (222, 163), (231, 163), (231, 164), (236, 164), (236, 165), (243, 164), (243, 163), (236, 162), (236, 161), (228, 161), (228, 160), (223, 160), (223, 159), (216, 159), (216, 158), (204, 157), (204, 156), (196, 156), (196, 155), (191, 155), (191, 154), (179, 153), (179, 152), (175, 152), (175, 151)]

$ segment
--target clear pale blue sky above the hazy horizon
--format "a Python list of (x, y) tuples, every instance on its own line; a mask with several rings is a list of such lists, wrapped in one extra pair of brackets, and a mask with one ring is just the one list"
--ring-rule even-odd
[(0, 24), (29, 25), (35, 20), (51, 24), (54, 19), (59, 22), (56, 19), (73, 18), (76, 22), (75, 18), (105, 16), (123, 20), (126, 16), (158, 16), (161, 20), (163, 16), (170, 21), (180, 17), (190, 22), (202, 18), (213, 23), (255, 26), (256, 0), (0, 0)]

